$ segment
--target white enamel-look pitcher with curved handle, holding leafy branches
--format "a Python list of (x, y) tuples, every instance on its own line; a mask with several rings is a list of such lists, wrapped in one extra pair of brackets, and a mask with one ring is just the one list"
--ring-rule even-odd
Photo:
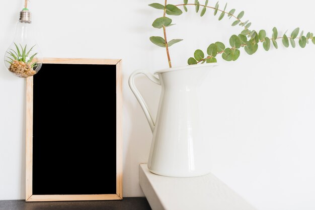
[[(153, 133), (148, 160), (152, 173), (192, 177), (210, 172), (209, 141), (202, 129), (203, 111), (200, 108), (203, 97), (200, 86), (209, 70), (216, 64), (190, 65), (169, 68), (153, 74), (135, 71), (129, 77), (129, 86), (139, 101)], [(162, 85), (159, 110), (156, 121), (134, 84), (134, 77), (144, 74), (156, 84)]]

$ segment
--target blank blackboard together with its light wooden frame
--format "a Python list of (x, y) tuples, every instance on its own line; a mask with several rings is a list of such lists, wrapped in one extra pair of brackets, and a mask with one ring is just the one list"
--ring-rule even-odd
[(51, 58), (27, 78), (26, 201), (122, 199), (120, 66)]

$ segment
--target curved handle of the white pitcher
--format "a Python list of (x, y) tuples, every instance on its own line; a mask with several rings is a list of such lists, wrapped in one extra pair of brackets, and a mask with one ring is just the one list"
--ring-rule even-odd
[(149, 112), (149, 109), (147, 108), (147, 105), (146, 105), (142, 95), (140, 94), (139, 90), (136, 88), (136, 86), (134, 84), (134, 77), (138, 74), (144, 74), (149, 80), (151, 80), (152, 82), (154, 82), (156, 84), (161, 85), (161, 82), (153, 74), (146, 72), (146, 71), (142, 71), (142, 70), (134, 71), (129, 77), (129, 87), (130, 87), (131, 91), (133, 92), (133, 94), (136, 96), (138, 102), (140, 103), (140, 106), (144, 112), (146, 120), (149, 123), (150, 129), (153, 133), (153, 130), (155, 127), (155, 122), (152, 119), (152, 116)]

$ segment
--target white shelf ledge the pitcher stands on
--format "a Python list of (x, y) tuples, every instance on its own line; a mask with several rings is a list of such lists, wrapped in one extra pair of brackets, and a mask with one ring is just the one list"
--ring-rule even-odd
[(251, 204), (212, 174), (165, 177), (139, 166), (140, 186), (153, 210), (254, 210)]

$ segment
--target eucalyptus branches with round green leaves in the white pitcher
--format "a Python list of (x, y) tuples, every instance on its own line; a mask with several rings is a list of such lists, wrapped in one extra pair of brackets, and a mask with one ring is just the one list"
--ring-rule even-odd
[(239, 25), (243, 27), (241, 33), (234, 34), (230, 37), (229, 47), (226, 47), (222, 42), (215, 42), (208, 46), (206, 54), (202, 50), (197, 49), (194, 52), (194, 56), (188, 59), (187, 62), (189, 65), (198, 63), (215, 63), (217, 62), (218, 55), (221, 55), (222, 59), (226, 61), (235, 61), (241, 55), (241, 51), (239, 50), (240, 48), (244, 48), (246, 53), (252, 55), (258, 50), (259, 43), (262, 43), (263, 48), (266, 51), (270, 49), (271, 43), (276, 49), (278, 49), (278, 40), (282, 40), (282, 44), (285, 47), (289, 47), (291, 45), (293, 48), (295, 48), (296, 46), (295, 40), (298, 41), (298, 44), (301, 48), (304, 48), (306, 44), (310, 43), (310, 41), (315, 44), (315, 37), (313, 36), (313, 33), (308, 32), (306, 36), (304, 36), (304, 32), (301, 31), (300, 35), (298, 36), (300, 32), (299, 28), (294, 29), (290, 35), (286, 35), (286, 32), (283, 34), (283, 36), (280, 37), (278, 36), (278, 30), (276, 27), (273, 28), (271, 37), (267, 37), (267, 33), (265, 30), (250, 30), (252, 23), (250, 21), (242, 20), (245, 14), (244, 11), (240, 12), (238, 15), (234, 15), (236, 12), (235, 9), (226, 12), (227, 4), (225, 4), (224, 9), (219, 9), (218, 2), (214, 7), (209, 7), (208, 0), (206, 0), (203, 5), (200, 4), (198, 0), (195, 0), (193, 4), (188, 4), (188, 0), (184, 0), (183, 4), (170, 5), (167, 4), (167, 0), (165, 0), (164, 5), (153, 3), (149, 6), (157, 10), (163, 10), (163, 17), (154, 20), (152, 26), (157, 29), (163, 29), (164, 38), (159, 36), (152, 36), (150, 37), (150, 41), (159, 47), (166, 48), (170, 68), (172, 67), (172, 62), (169, 47), (182, 41), (182, 39), (173, 39), (171, 41), (167, 40), (166, 28), (175, 24), (172, 24), (172, 19), (166, 17), (166, 15), (182, 15), (183, 12), (179, 7), (183, 7), (183, 9), (187, 12), (188, 6), (194, 6), (196, 13), (200, 13), (201, 17), (206, 13), (207, 9), (211, 9), (214, 11), (214, 16), (220, 14), (218, 18), (219, 21), (222, 20), (224, 17), (228, 17), (229, 19), (233, 18), (235, 20), (232, 23), (232, 26)]

